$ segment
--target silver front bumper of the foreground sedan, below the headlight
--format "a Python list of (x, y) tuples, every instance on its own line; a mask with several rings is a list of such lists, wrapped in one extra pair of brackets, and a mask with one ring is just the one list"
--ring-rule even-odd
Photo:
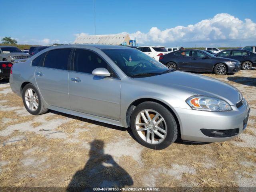
[[(238, 109), (232, 106), (232, 111), (208, 112), (184, 108), (174, 108), (180, 122), (180, 134), (182, 140), (194, 142), (222, 142), (230, 140), (241, 134), (245, 129), (250, 112), (248, 103)], [(219, 131), (237, 129), (238, 134), (227, 137), (206, 136), (202, 129)]]

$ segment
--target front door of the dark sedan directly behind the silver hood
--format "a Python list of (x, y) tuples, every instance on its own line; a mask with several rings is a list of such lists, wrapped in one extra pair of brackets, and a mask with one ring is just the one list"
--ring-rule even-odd
[(200, 51), (191, 51), (191, 70), (208, 72), (212, 71), (212, 60)]

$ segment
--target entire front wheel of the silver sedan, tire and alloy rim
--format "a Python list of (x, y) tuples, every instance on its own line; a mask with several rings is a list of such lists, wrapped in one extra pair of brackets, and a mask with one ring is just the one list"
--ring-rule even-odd
[(130, 124), (136, 140), (148, 148), (164, 149), (178, 136), (174, 116), (156, 102), (139, 104), (132, 112)]

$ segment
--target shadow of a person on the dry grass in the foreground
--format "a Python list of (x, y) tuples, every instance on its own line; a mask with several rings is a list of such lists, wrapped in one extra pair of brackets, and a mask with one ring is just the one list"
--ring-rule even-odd
[(94, 191), (92, 187), (119, 187), (133, 185), (131, 176), (120, 167), (109, 154), (104, 154), (104, 142), (93, 140), (90, 143), (89, 160), (82, 170), (78, 170), (67, 192)]

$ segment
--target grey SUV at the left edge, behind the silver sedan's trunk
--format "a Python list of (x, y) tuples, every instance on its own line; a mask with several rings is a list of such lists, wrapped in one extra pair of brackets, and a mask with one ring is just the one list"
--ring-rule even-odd
[(0, 46), (0, 61), (15, 62), (17, 59), (28, 59), (28, 54), (14, 46)]

